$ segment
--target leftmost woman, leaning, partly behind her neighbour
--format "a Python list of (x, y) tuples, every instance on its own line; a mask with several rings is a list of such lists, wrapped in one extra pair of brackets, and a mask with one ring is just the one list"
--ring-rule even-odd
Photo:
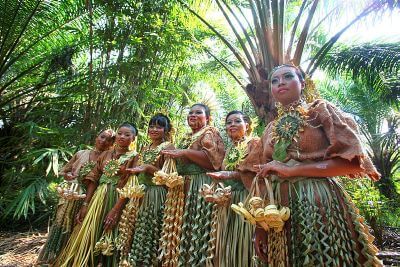
[[(112, 146), (114, 139), (114, 131), (101, 131), (96, 137), (95, 147), (93, 149), (78, 151), (63, 167), (60, 175), (64, 176), (64, 180), (67, 182), (77, 179), (81, 184), (82, 178), (85, 177), (96, 164), (100, 153), (108, 150)], [(60, 198), (55, 222), (51, 227), (46, 244), (39, 254), (38, 263), (51, 264), (54, 262), (75, 226), (75, 216), (81, 204), (82, 201), (79, 199)]]

